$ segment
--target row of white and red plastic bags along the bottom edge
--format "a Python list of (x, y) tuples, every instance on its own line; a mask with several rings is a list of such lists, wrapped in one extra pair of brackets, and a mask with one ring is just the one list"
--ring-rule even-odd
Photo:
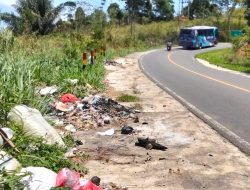
[(24, 176), (20, 182), (28, 190), (50, 190), (55, 187), (71, 190), (113, 190), (112, 186), (101, 184), (98, 176), (85, 179), (80, 173), (68, 168), (55, 173), (44, 167), (27, 167), (22, 168), (19, 175)]

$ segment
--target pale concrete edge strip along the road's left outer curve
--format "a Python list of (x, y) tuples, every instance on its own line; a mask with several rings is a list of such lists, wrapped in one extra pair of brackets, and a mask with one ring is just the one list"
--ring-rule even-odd
[[(158, 50), (155, 50), (158, 51)], [(229, 142), (231, 142), (233, 145), (238, 147), (242, 152), (246, 153), (247, 155), (250, 155), (250, 143), (218, 123), (217, 121), (213, 120), (210, 116), (206, 115), (202, 111), (200, 111), (198, 108), (184, 100), (182, 97), (177, 95), (175, 92), (170, 90), (167, 87), (164, 87), (162, 84), (160, 84), (156, 79), (150, 76), (149, 73), (147, 73), (142, 65), (142, 59), (145, 55), (152, 53), (154, 51), (149, 51), (143, 54), (138, 62), (139, 62), (139, 67), (141, 71), (151, 80), (153, 81), (157, 86), (159, 86), (161, 89), (165, 90), (169, 95), (171, 95), (173, 98), (175, 98), (178, 102), (180, 102), (183, 106), (185, 106), (190, 112), (192, 112), (194, 115), (196, 115), (198, 118), (203, 120), (208, 126), (210, 126), (212, 129), (214, 129), (217, 133), (219, 133), (222, 137), (227, 139)]]

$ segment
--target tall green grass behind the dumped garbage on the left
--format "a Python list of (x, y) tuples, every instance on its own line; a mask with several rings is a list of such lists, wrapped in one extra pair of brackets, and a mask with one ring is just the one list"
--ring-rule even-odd
[[(11, 34), (11, 33), (8, 33)], [(57, 85), (59, 95), (74, 93), (84, 96), (88, 93), (86, 84), (103, 89), (103, 57), (96, 64), (82, 69), (82, 53), (94, 46), (85, 36), (22, 36), (4, 38), (0, 32), (0, 43), (9, 45), (0, 55), (0, 120), (6, 121), (9, 110), (16, 104), (26, 104), (46, 111), (49, 97), (40, 97), (36, 89)], [(9, 39), (9, 40), (8, 40)], [(88, 51), (88, 55), (90, 55)], [(67, 79), (78, 79), (77, 85)]]

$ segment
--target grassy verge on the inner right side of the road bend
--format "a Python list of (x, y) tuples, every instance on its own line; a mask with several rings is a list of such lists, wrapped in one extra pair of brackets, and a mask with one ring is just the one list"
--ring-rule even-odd
[(231, 48), (202, 53), (196, 57), (223, 68), (250, 73), (250, 58), (235, 57)]

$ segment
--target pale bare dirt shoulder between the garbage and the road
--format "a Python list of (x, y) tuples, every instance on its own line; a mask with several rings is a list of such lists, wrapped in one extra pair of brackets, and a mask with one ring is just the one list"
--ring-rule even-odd
[[(81, 148), (93, 158), (85, 163), (88, 176), (137, 190), (249, 189), (249, 157), (151, 82), (139, 69), (141, 55), (106, 66), (109, 97), (125, 93), (140, 99), (128, 104), (142, 109), (139, 123), (127, 123), (138, 132), (121, 135), (121, 126), (110, 126), (116, 130), (113, 136), (78, 132)], [(168, 149), (137, 147), (138, 136), (155, 138)]]

